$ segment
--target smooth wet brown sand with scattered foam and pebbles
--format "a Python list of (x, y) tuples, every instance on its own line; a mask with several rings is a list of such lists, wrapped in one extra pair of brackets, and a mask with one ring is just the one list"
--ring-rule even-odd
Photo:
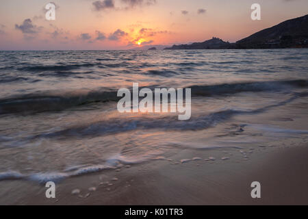
[[(182, 157), (188, 160), (181, 163)], [(170, 159), (66, 179), (51, 199), (44, 185), (1, 181), (0, 204), (308, 205), (307, 157), (307, 138), (246, 149), (183, 150)], [(261, 183), (259, 199), (251, 198), (253, 181)]]

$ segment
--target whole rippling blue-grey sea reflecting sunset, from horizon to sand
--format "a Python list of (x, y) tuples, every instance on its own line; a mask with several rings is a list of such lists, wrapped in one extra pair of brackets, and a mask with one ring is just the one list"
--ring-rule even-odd
[[(118, 89), (133, 83), (191, 88), (191, 118), (118, 112)], [(308, 49), (0, 51), (0, 88), (0, 180), (308, 136)]]

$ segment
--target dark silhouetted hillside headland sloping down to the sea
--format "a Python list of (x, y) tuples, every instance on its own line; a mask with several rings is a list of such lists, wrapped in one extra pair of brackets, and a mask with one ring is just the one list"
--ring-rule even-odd
[(237, 42), (230, 43), (220, 38), (204, 42), (179, 44), (165, 49), (287, 49), (308, 48), (308, 14), (284, 21), (274, 27), (263, 29)]

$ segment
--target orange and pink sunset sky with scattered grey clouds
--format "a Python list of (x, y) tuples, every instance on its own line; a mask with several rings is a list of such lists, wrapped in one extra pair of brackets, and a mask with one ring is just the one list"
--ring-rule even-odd
[[(131, 49), (201, 42), (235, 42), (308, 14), (307, 0), (42, 0), (0, 1), (1, 50)], [(261, 21), (251, 5), (261, 5)]]

